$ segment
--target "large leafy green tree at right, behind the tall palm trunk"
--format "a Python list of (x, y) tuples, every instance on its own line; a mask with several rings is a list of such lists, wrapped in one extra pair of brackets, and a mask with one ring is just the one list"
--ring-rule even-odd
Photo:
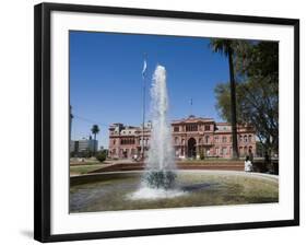
[[(267, 151), (279, 149), (279, 46), (273, 42), (240, 42), (236, 46), (238, 122), (251, 125)], [(231, 119), (231, 90), (215, 88), (221, 116)]]

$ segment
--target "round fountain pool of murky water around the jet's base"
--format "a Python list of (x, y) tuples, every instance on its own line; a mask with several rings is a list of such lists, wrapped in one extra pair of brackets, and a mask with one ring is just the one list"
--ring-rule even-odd
[(142, 171), (70, 178), (70, 212), (163, 209), (279, 201), (279, 177), (235, 171), (178, 171), (176, 187), (142, 189)]

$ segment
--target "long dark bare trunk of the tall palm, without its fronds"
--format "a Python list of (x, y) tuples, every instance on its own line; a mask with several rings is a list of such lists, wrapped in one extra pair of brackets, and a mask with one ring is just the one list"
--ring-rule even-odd
[(238, 138), (237, 138), (237, 108), (236, 108), (236, 82), (234, 74), (233, 49), (228, 51), (228, 65), (231, 75), (231, 105), (232, 105), (232, 135), (233, 135), (233, 159), (238, 159)]

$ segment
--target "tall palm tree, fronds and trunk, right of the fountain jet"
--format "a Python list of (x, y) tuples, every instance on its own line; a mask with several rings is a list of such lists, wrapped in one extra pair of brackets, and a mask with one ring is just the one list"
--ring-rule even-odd
[(233, 135), (233, 159), (238, 159), (237, 140), (237, 109), (236, 109), (236, 82), (234, 73), (234, 40), (211, 38), (210, 46), (214, 52), (220, 52), (228, 58), (229, 79), (231, 79), (231, 115)]

